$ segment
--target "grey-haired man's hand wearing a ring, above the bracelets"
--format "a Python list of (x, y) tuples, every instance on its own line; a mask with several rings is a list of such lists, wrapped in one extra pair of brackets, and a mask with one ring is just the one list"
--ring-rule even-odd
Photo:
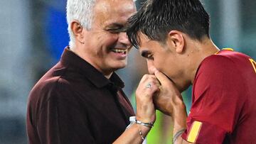
[(159, 81), (153, 74), (145, 74), (136, 90), (137, 120), (144, 123), (156, 121), (153, 95), (159, 92)]

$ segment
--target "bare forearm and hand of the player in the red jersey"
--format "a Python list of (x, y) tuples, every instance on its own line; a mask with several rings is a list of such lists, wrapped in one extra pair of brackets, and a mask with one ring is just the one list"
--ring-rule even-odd
[[(174, 143), (188, 143), (181, 138), (182, 130), (186, 130), (186, 106), (181, 93), (178, 92), (174, 82), (171, 82), (161, 72), (155, 72), (156, 78), (161, 83), (160, 92), (154, 95), (156, 109), (171, 116), (174, 121), (173, 133), (176, 135)], [(177, 135), (178, 134), (178, 135)]]

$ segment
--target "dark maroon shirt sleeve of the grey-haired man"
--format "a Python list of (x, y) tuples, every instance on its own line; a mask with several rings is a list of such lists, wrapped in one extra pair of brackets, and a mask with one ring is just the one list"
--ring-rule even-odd
[(85, 109), (66, 87), (49, 92), (50, 99), (38, 113), (37, 130), (41, 143), (95, 143)]

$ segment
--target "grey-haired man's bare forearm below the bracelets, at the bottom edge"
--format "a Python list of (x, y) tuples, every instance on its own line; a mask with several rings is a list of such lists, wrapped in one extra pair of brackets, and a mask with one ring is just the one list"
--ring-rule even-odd
[(125, 130), (124, 133), (122, 133), (122, 135), (120, 135), (119, 138), (114, 141), (114, 144), (142, 143), (150, 129), (151, 128), (149, 127), (133, 123), (132, 126), (127, 128), (127, 130)]

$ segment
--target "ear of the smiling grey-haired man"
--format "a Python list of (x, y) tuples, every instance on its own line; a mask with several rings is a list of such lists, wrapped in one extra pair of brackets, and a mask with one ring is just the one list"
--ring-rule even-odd
[(81, 24), (78, 21), (72, 21), (70, 25), (71, 31), (73, 31), (73, 34), (75, 38), (80, 42), (80, 43), (85, 43), (84, 42), (84, 34), (82, 31), (84, 28), (82, 28)]

